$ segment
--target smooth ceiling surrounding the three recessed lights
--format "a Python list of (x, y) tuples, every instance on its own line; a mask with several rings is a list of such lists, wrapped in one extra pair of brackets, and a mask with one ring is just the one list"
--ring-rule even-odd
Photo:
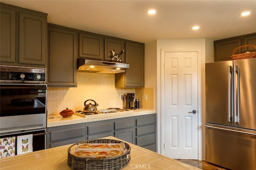
[[(224, 39), (256, 32), (256, 0), (1, 0), (48, 14), (48, 22), (147, 43)], [(154, 16), (146, 10), (154, 8)], [(250, 16), (240, 12), (249, 10)], [(191, 28), (199, 25), (200, 29)]]

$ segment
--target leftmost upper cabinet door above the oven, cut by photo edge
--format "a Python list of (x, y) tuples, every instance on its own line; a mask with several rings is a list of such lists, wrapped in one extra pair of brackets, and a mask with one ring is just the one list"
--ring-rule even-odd
[(1, 6), (1, 62), (15, 62), (15, 43), (16, 43), (16, 11), (3, 8)]

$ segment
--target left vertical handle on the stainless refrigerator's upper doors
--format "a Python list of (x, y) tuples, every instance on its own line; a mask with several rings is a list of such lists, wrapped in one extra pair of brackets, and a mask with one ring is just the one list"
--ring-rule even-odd
[(232, 66), (228, 66), (228, 122), (233, 121), (232, 120), (232, 82), (233, 80), (233, 68)]

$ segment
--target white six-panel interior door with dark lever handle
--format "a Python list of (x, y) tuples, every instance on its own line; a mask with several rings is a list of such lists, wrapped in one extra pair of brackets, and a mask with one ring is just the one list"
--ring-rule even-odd
[[(163, 153), (198, 159), (198, 51), (162, 51)], [(193, 110), (196, 113), (189, 113)]]

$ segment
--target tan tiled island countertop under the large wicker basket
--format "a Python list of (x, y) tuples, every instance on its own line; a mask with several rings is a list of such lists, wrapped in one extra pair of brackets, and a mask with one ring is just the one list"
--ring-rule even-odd
[[(120, 140), (115, 137), (106, 139)], [(121, 141), (121, 140), (120, 140)], [(150, 170), (200, 170), (194, 166), (185, 164), (128, 143), (131, 147), (131, 160), (123, 170), (150, 169)], [(38, 150), (27, 154), (21, 154), (0, 159), (1, 170), (70, 170), (68, 167), (68, 148), (71, 145)]]

